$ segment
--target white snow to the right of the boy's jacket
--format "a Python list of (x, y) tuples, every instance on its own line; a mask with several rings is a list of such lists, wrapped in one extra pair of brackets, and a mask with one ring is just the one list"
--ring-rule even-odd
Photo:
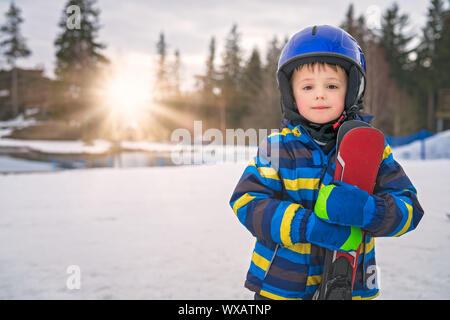
[(424, 216), (399, 238), (377, 238), (382, 299), (450, 299), (450, 160), (401, 161)]

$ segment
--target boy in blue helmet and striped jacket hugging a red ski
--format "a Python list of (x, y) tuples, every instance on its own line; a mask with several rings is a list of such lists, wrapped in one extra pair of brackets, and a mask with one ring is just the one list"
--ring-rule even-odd
[[(255, 299), (311, 299), (322, 280), (325, 248), (340, 250), (352, 243), (350, 229), (357, 226), (367, 236), (353, 299), (375, 298), (374, 237), (415, 229), (423, 210), (389, 145), (373, 195), (333, 183), (339, 126), (349, 119), (371, 119), (359, 112), (364, 54), (339, 28), (308, 27), (284, 47), (277, 78), (282, 130), (260, 146), (230, 200), (239, 221), (256, 237), (245, 287)], [(318, 210), (327, 210), (329, 219), (320, 219)]]

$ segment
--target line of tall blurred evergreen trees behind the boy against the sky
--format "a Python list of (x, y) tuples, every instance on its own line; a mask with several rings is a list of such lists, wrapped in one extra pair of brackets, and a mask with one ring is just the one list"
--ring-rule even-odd
[[(436, 130), (436, 111), (442, 104), (442, 93), (450, 88), (449, 3), (430, 0), (426, 24), (419, 35), (408, 31), (409, 16), (396, 3), (382, 13), (379, 28), (368, 26), (363, 15), (356, 17), (352, 4), (343, 17), (340, 26), (355, 37), (366, 56), (365, 111), (373, 114), (373, 124), (389, 135), (405, 135), (421, 128)], [(105, 117), (105, 111), (95, 103), (98, 88), (93, 79), (98, 79), (110, 63), (103, 54), (105, 44), (98, 40), (100, 10), (95, 5), (95, 0), (68, 0), (64, 5), (60, 32), (54, 40), (56, 78), (46, 112), (49, 119), (81, 121), (93, 134)], [(69, 28), (74, 6), (81, 12), (76, 17), (79, 27)], [(5, 17), (0, 49), (12, 71), (10, 97), (14, 106), (19, 98), (14, 93), (17, 60), (28, 57), (31, 50), (20, 32), (23, 18), (13, 1)], [(224, 39), (219, 60), (213, 36), (207, 46), (204, 73), (195, 76), (195, 88), (182, 90), (181, 52), (177, 49), (169, 54), (161, 32), (155, 43), (155, 68), (149, 70), (155, 75), (154, 86), (149, 88), (155, 102), (180, 115), (203, 120), (204, 128), (278, 128), (281, 110), (275, 74), (287, 38), (274, 35), (263, 56), (257, 47), (247, 54), (242, 37), (234, 24)], [(164, 115), (157, 117), (166, 127), (166, 138), (180, 126), (180, 122)]]

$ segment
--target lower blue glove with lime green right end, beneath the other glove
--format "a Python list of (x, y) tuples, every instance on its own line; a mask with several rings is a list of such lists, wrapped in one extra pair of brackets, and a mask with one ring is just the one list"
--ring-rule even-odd
[(362, 231), (357, 227), (340, 226), (319, 219), (314, 212), (305, 228), (306, 241), (338, 251), (354, 251), (362, 241)]

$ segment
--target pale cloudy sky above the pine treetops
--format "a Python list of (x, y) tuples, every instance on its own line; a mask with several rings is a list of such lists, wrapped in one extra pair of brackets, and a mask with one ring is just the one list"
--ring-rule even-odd
[[(32, 50), (27, 59), (18, 61), (22, 67), (44, 67), (52, 77), (55, 65), (53, 42), (59, 32), (67, 0), (15, 0), (22, 10), (22, 34)], [(10, 0), (0, 0), (0, 24)], [(113, 62), (134, 68), (148, 68), (156, 57), (156, 43), (164, 32), (169, 54), (180, 50), (182, 76), (191, 85), (193, 76), (204, 71), (208, 45), (216, 37), (217, 58), (234, 23), (241, 33), (244, 58), (257, 47), (264, 55), (267, 43), (277, 36), (282, 40), (304, 27), (315, 24), (338, 26), (344, 20), (350, 3), (355, 15), (364, 14), (374, 28), (379, 17), (393, 3), (391, 0), (98, 0), (102, 28), (98, 39), (107, 45), (104, 54)], [(410, 32), (418, 34), (425, 24), (429, 1), (398, 0), (400, 12), (410, 16)], [(217, 60), (218, 61), (218, 60)], [(0, 64), (4, 67), (4, 63)]]

